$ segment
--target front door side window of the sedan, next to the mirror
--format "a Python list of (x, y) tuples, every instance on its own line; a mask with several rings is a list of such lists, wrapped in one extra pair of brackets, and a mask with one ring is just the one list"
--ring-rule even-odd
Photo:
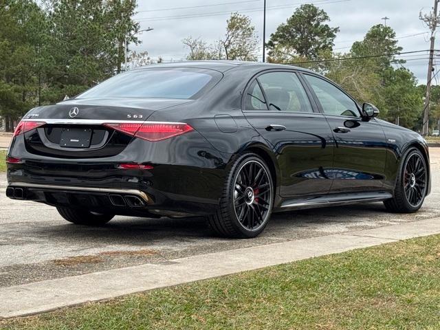
[(315, 76), (309, 76), (308, 74), (304, 76), (314, 90), (324, 113), (359, 117), (359, 109), (356, 103), (338, 87)]

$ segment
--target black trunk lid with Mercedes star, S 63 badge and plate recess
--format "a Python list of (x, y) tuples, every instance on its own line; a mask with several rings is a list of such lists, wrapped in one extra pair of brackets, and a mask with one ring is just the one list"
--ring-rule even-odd
[(30, 153), (50, 157), (111, 157), (121, 153), (133, 137), (104, 123), (142, 123), (155, 111), (186, 102), (191, 100), (100, 98), (37, 107), (23, 120), (45, 124), (25, 132), (25, 146)]

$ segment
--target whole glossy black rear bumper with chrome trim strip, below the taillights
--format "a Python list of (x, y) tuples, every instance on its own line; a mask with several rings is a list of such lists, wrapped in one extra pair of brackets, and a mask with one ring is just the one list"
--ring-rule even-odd
[[(115, 214), (210, 214), (225, 179), (225, 159), (197, 132), (155, 144), (135, 139), (118, 155), (86, 159), (34, 155), (19, 135), (8, 157), (21, 159), (8, 164), (9, 197)], [(153, 168), (120, 168), (127, 162)]]

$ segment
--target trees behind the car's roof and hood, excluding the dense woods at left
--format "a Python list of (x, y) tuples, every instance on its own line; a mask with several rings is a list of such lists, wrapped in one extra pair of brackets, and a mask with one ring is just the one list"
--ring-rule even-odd
[[(395, 31), (377, 24), (355, 41), (349, 52), (333, 50), (339, 27), (329, 25), (330, 17), (313, 4), (297, 8), (285, 23), (271, 34), (266, 44), (270, 63), (291, 64), (324, 74), (336, 81), (360, 102), (379, 107), (380, 117), (401, 126), (421, 130), (425, 86), (418, 85), (401, 57)], [(226, 22), (223, 39), (208, 44), (203, 39), (182, 41), (188, 48), (188, 60), (227, 59), (256, 61), (259, 38), (250, 18), (234, 12)], [(432, 91), (431, 128), (440, 118), (440, 87)]]

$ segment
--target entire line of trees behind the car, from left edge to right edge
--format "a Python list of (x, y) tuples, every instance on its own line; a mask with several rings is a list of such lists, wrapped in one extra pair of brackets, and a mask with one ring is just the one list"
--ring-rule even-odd
[[(7, 131), (32, 107), (75, 96), (124, 71), (125, 41), (140, 43), (133, 20), (136, 0), (0, 0), (0, 116)], [(349, 52), (336, 52), (338, 27), (328, 14), (305, 4), (281, 23), (267, 42), (267, 62), (313, 69), (335, 80), (381, 117), (421, 128), (425, 86), (404, 67), (395, 31), (378, 24)], [(249, 17), (233, 12), (223, 38), (182, 41), (188, 60), (257, 61), (259, 36)], [(377, 56), (377, 55), (387, 56)], [(153, 61), (129, 52), (128, 68)], [(159, 62), (161, 60), (159, 59)], [(440, 87), (432, 89), (431, 128), (440, 118)]]

